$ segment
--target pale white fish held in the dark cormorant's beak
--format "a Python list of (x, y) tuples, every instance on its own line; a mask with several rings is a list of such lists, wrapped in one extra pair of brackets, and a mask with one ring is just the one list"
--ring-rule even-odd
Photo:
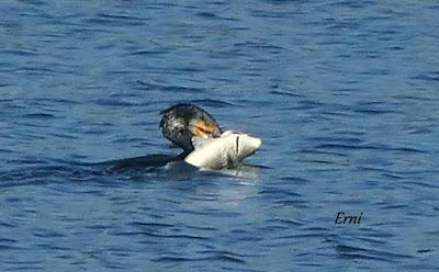
[(194, 150), (184, 159), (198, 168), (233, 168), (243, 159), (256, 152), (262, 145), (258, 137), (227, 131), (218, 138), (192, 137)]

